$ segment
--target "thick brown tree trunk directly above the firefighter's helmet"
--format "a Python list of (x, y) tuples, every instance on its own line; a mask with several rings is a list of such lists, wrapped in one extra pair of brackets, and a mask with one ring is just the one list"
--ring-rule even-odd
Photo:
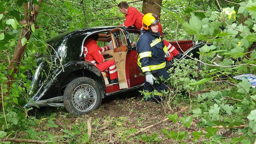
[(160, 18), (161, 7), (159, 5), (162, 6), (162, 0), (143, 0), (142, 13), (154, 13)]

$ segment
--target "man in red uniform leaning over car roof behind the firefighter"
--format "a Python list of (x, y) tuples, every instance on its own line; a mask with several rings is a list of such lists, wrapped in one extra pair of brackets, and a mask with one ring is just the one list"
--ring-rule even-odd
[[(135, 7), (130, 7), (128, 3), (124, 1), (118, 4), (118, 8), (119, 8), (119, 11), (123, 13), (126, 17), (126, 20), (124, 21), (124, 23), (120, 24), (121, 26), (128, 28), (133, 25), (138, 30), (143, 30), (143, 27), (142, 27), (142, 18), (144, 16), (143, 13), (139, 12), (139, 10)], [(161, 23), (158, 23), (158, 32), (160, 32), (161, 36), (163, 37)], [(170, 64), (168, 64), (168, 61), (171, 62), (174, 57), (179, 58), (182, 54), (169, 42), (167, 42), (166, 40), (163, 40), (163, 41), (170, 53), (170, 57), (165, 57), (167, 61), (167, 67), (169, 67)]]

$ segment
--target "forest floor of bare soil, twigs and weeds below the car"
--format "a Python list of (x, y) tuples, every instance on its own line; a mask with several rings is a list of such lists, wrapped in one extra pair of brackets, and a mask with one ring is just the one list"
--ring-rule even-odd
[[(203, 143), (204, 138), (193, 140), (192, 133), (205, 129), (199, 128), (198, 120), (193, 118), (191, 127), (184, 127), (178, 121), (173, 123), (167, 118), (169, 114), (189, 116), (190, 106), (184, 102), (166, 108), (163, 104), (156, 102), (145, 102), (140, 93), (127, 93), (104, 98), (100, 108), (84, 116), (74, 116), (67, 114), (64, 109), (58, 109), (54, 116), (54, 123), (59, 127), (49, 128), (45, 123), (40, 123), (38, 130), (45, 130), (52, 133), (56, 143), (92, 143), (92, 144), (180, 144), (180, 143)], [(59, 113), (59, 114), (58, 114)], [(78, 133), (76, 138), (61, 138), (63, 129)], [(76, 130), (74, 130), (76, 129)], [(180, 141), (168, 138), (162, 131), (185, 132)], [(138, 132), (140, 131), (140, 132)], [(217, 134), (225, 135), (226, 129), (220, 129)], [(66, 132), (67, 133), (67, 132)], [(80, 133), (80, 134), (79, 134)], [(88, 137), (84, 135), (88, 134)], [(81, 136), (82, 135), (82, 136)]]

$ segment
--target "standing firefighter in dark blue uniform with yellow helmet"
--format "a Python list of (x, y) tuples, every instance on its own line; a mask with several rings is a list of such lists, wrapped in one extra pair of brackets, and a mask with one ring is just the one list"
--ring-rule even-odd
[(143, 95), (151, 95), (156, 89), (158, 92), (154, 93), (154, 99), (161, 101), (161, 91), (167, 87), (161, 82), (154, 83), (154, 80), (161, 76), (165, 79), (169, 78), (165, 69), (165, 55), (170, 57), (170, 54), (158, 32), (159, 22), (160, 19), (155, 14), (147, 13), (143, 16), (143, 30), (137, 42), (137, 65), (139, 70), (145, 74)]

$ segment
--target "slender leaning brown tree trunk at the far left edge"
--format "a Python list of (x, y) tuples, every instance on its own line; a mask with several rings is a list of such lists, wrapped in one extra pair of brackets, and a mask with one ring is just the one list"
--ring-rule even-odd
[[(42, 0), (39, 0), (39, 4), (41, 5)], [(9, 95), (9, 91), (11, 89), (11, 84), (13, 83), (14, 77), (13, 74), (17, 74), (20, 68), (20, 62), (22, 60), (22, 57), (24, 56), (24, 52), (26, 50), (27, 44), (22, 46), (22, 38), (26, 38), (27, 41), (30, 39), (31, 32), (31, 24), (35, 23), (35, 20), (37, 19), (37, 14), (39, 13), (39, 5), (33, 5), (32, 0), (28, 1), (28, 3), (23, 4), (23, 10), (24, 10), (24, 15), (25, 19), (20, 21), (22, 25), (27, 24), (22, 28), (22, 32), (20, 33), (20, 37), (18, 39), (17, 45), (15, 47), (15, 51), (13, 53), (13, 58), (11, 60), (11, 64), (9, 65), (7, 71), (13, 70), (12, 74), (7, 74), (7, 89), (8, 92), (5, 93), (5, 95)], [(2, 109), (2, 104), (0, 105), (0, 110)]]

